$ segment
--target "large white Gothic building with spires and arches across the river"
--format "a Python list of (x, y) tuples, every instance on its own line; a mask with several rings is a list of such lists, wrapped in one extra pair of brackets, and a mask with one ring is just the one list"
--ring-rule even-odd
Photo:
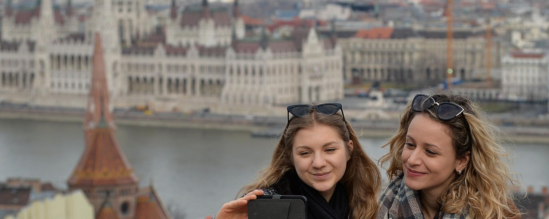
[(102, 34), (105, 73), (117, 108), (268, 114), (275, 105), (343, 98), (341, 49), (334, 37), (320, 37), (314, 28), (296, 28), (286, 38), (242, 38), (237, 3), (237, 16), (231, 17), (227, 9), (210, 9), (206, 2), (181, 15), (172, 7), (170, 24), (153, 31), (148, 21), (132, 20), (142, 11), (132, 8), (129, 15), (125, 7), (127, 16), (121, 18), (119, 5), (96, 0), (83, 23), (85, 32), (66, 34), (47, 31), (57, 23), (43, 17), (46, 11), (37, 17), (43, 23), (40, 37), (32, 32), (23, 40), (2, 41), (0, 100), (85, 107), (93, 32)]

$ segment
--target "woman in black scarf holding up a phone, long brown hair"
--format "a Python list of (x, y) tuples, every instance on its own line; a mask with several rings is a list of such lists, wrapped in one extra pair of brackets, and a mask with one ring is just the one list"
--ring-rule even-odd
[(304, 195), (308, 219), (375, 218), (380, 172), (339, 110), (339, 103), (288, 106), (270, 165), (216, 219), (247, 218), (248, 200), (263, 194)]

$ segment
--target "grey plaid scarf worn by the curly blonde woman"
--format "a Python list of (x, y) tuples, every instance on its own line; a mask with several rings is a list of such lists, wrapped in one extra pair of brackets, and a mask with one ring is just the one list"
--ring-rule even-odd
[[(470, 219), (468, 209), (463, 212), (450, 214), (438, 211), (435, 219)], [(419, 204), (417, 191), (412, 190), (404, 183), (404, 174), (400, 174), (379, 199), (377, 219), (425, 219)]]

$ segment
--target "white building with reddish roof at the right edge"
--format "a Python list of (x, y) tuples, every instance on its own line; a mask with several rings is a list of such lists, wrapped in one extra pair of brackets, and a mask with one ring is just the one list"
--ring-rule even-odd
[(545, 101), (549, 97), (549, 57), (543, 51), (513, 51), (503, 57), (501, 88), (512, 101)]

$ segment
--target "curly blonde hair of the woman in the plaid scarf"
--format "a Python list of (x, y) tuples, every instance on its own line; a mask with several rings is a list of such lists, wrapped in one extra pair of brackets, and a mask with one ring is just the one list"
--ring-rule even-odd
[(463, 116), (460, 114), (450, 120), (440, 120), (436, 117), (436, 107), (416, 112), (411, 108), (411, 101), (408, 102), (401, 113), (399, 129), (383, 146), (389, 146), (389, 153), (378, 160), (387, 170), (389, 179), (393, 180), (402, 173), (401, 157), (408, 126), (414, 116), (423, 113), (449, 128), (457, 159), (470, 152), (469, 162), (462, 174), (456, 175), (439, 197), (442, 211), (456, 213), (469, 206), (469, 211), (477, 218), (503, 219), (520, 215), (513, 204), (510, 186), (522, 184), (513, 177), (515, 174), (509, 171), (504, 161), (508, 162), (509, 153), (496, 140), (500, 134), (498, 129), (488, 122), (485, 112), (469, 96), (450, 94), (448, 91), (431, 96), (439, 103), (460, 105), (464, 109)]

